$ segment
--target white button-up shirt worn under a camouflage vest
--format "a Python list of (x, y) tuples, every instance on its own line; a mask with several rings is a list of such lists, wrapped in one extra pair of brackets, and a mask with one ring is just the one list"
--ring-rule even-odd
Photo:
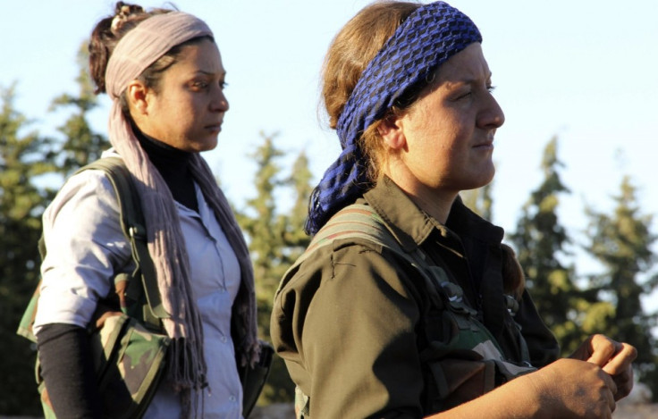
[[(203, 321), (209, 385), (199, 405), (204, 418), (241, 418), (242, 388), (231, 339), (231, 307), (240, 287), (240, 266), (196, 184), (195, 189), (198, 213), (176, 205)], [(97, 300), (110, 292), (114, 275), (134, 268), (114, 189), (105, 173), (88, 170), (68, 180), (46, 208), (43, 223), (47, 251), (34, 330), (47, 323), (86, 327)], [(163, 381), (145, 417), (178, 418), (180, 410), (178, 397)]]

